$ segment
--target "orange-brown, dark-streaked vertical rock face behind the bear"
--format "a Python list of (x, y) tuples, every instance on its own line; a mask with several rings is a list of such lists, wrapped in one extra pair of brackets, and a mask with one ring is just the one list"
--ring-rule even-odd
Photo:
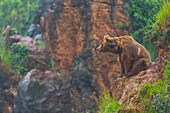
[(93, 49), (106, 34), (129, 34), (129, 21), (124, 12), (126, 2), (56, 0), (47, 4), (52, 4), (51, 9), (42, 15), (43, 25), (40, 26), (44, 26), (47, 47), (56, 69), (68, 71), (69, 77), (77, 66), (85, 64), (97, 76), (101, 88), (109, 87), (115, 72), (119, 71), (116, 55), (96, 54)]

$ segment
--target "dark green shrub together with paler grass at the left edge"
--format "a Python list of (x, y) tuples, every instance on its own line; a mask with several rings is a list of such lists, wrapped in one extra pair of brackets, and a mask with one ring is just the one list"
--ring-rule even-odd
[(5, 30), (2, 30), (0, 35), (0, 58), (2, 64), (7, 68), (11, 68), (16, 74), (26, 74), (28, 70), (23, 66), (23, 61), (29, 55), (28, 48), (19, 44), (13, 44), (11, 48), (7, 48), (5, 32)]

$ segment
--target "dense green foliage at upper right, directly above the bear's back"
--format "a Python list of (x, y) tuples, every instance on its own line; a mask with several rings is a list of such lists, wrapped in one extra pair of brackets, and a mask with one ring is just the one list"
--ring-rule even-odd
[(132, 35), (142, 42), (145, 31), (155, 22), (155, 14), (162, 0), (131, 0), (127, 6), (127, 15), (132, 22)]

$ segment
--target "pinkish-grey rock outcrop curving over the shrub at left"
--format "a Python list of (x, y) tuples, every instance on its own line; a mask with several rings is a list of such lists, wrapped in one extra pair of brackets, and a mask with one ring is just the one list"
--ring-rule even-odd
[(8, 38), (7, 43), (10, 46), (14, 43), (25, 45), (28, 48), (30, 55), (26, 57), (23, 64), (24, 67), (27, 68), (28, 70), (39, 69), (42, 71), (46, 71), (51, 69), (50, 53), (41, 46), (36, 45), (36, 41), (31, 37), (13, 35)]

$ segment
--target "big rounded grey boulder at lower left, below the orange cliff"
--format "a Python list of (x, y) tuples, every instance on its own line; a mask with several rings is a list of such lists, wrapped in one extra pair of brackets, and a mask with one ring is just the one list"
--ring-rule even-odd
[(71, 106), (63, 102), (70, 104), (70, 86), (63, 82), (51, 72), (30, 71), (20, 84), (15, 113), (69, 113)]

